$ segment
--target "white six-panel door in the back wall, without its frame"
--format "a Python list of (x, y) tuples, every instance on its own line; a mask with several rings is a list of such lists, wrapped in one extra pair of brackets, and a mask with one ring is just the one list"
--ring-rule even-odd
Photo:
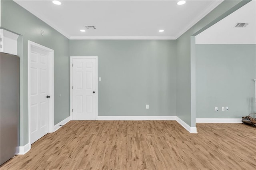
[(72, 58), (72, 119), (96, 120), (96, 58)]

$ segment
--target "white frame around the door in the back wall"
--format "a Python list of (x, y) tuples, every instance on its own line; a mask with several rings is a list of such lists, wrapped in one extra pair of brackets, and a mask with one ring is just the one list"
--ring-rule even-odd
[(73, 93), (72, 93), (72, 81), (73, 81), (73, 70), (72, 70), (72, 59), (79, 59), (79, 58), (93, 58), (96, 59), (96, 120), (98, 120), (98, 56), (70, 56), (70, 117), (73, 120)]

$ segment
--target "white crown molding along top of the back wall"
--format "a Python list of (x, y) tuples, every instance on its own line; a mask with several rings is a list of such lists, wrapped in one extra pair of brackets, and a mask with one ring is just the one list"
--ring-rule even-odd
[(176, 40), (173, 36), (70, 36), (70, 40)]

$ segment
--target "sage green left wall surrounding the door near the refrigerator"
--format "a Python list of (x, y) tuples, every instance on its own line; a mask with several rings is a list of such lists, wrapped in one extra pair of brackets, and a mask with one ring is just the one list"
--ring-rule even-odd
[[(69, 108), (69, 40), (13, 1), (1, 1), (2, 27), (23, 37), (20, 55), (20, 146), (28, 143), (28, 40), (54, 49), (54, 124), (67, 118)], [(44, 30), (44, 36), (40, 31)], [(22, 40), (22, 39), (21, 39)], [(22, 43), (19, 43), (19, 45)], [(61, 94), (61, 97), (58, 95)]]

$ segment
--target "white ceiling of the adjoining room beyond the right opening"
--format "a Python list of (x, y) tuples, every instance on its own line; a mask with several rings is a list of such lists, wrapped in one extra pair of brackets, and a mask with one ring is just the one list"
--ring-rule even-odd
[[(248, 22), (245, 28), (234, 28)], [(242, 6), (196, 36), (196, 44), (256, 44), (256, 1)]]

